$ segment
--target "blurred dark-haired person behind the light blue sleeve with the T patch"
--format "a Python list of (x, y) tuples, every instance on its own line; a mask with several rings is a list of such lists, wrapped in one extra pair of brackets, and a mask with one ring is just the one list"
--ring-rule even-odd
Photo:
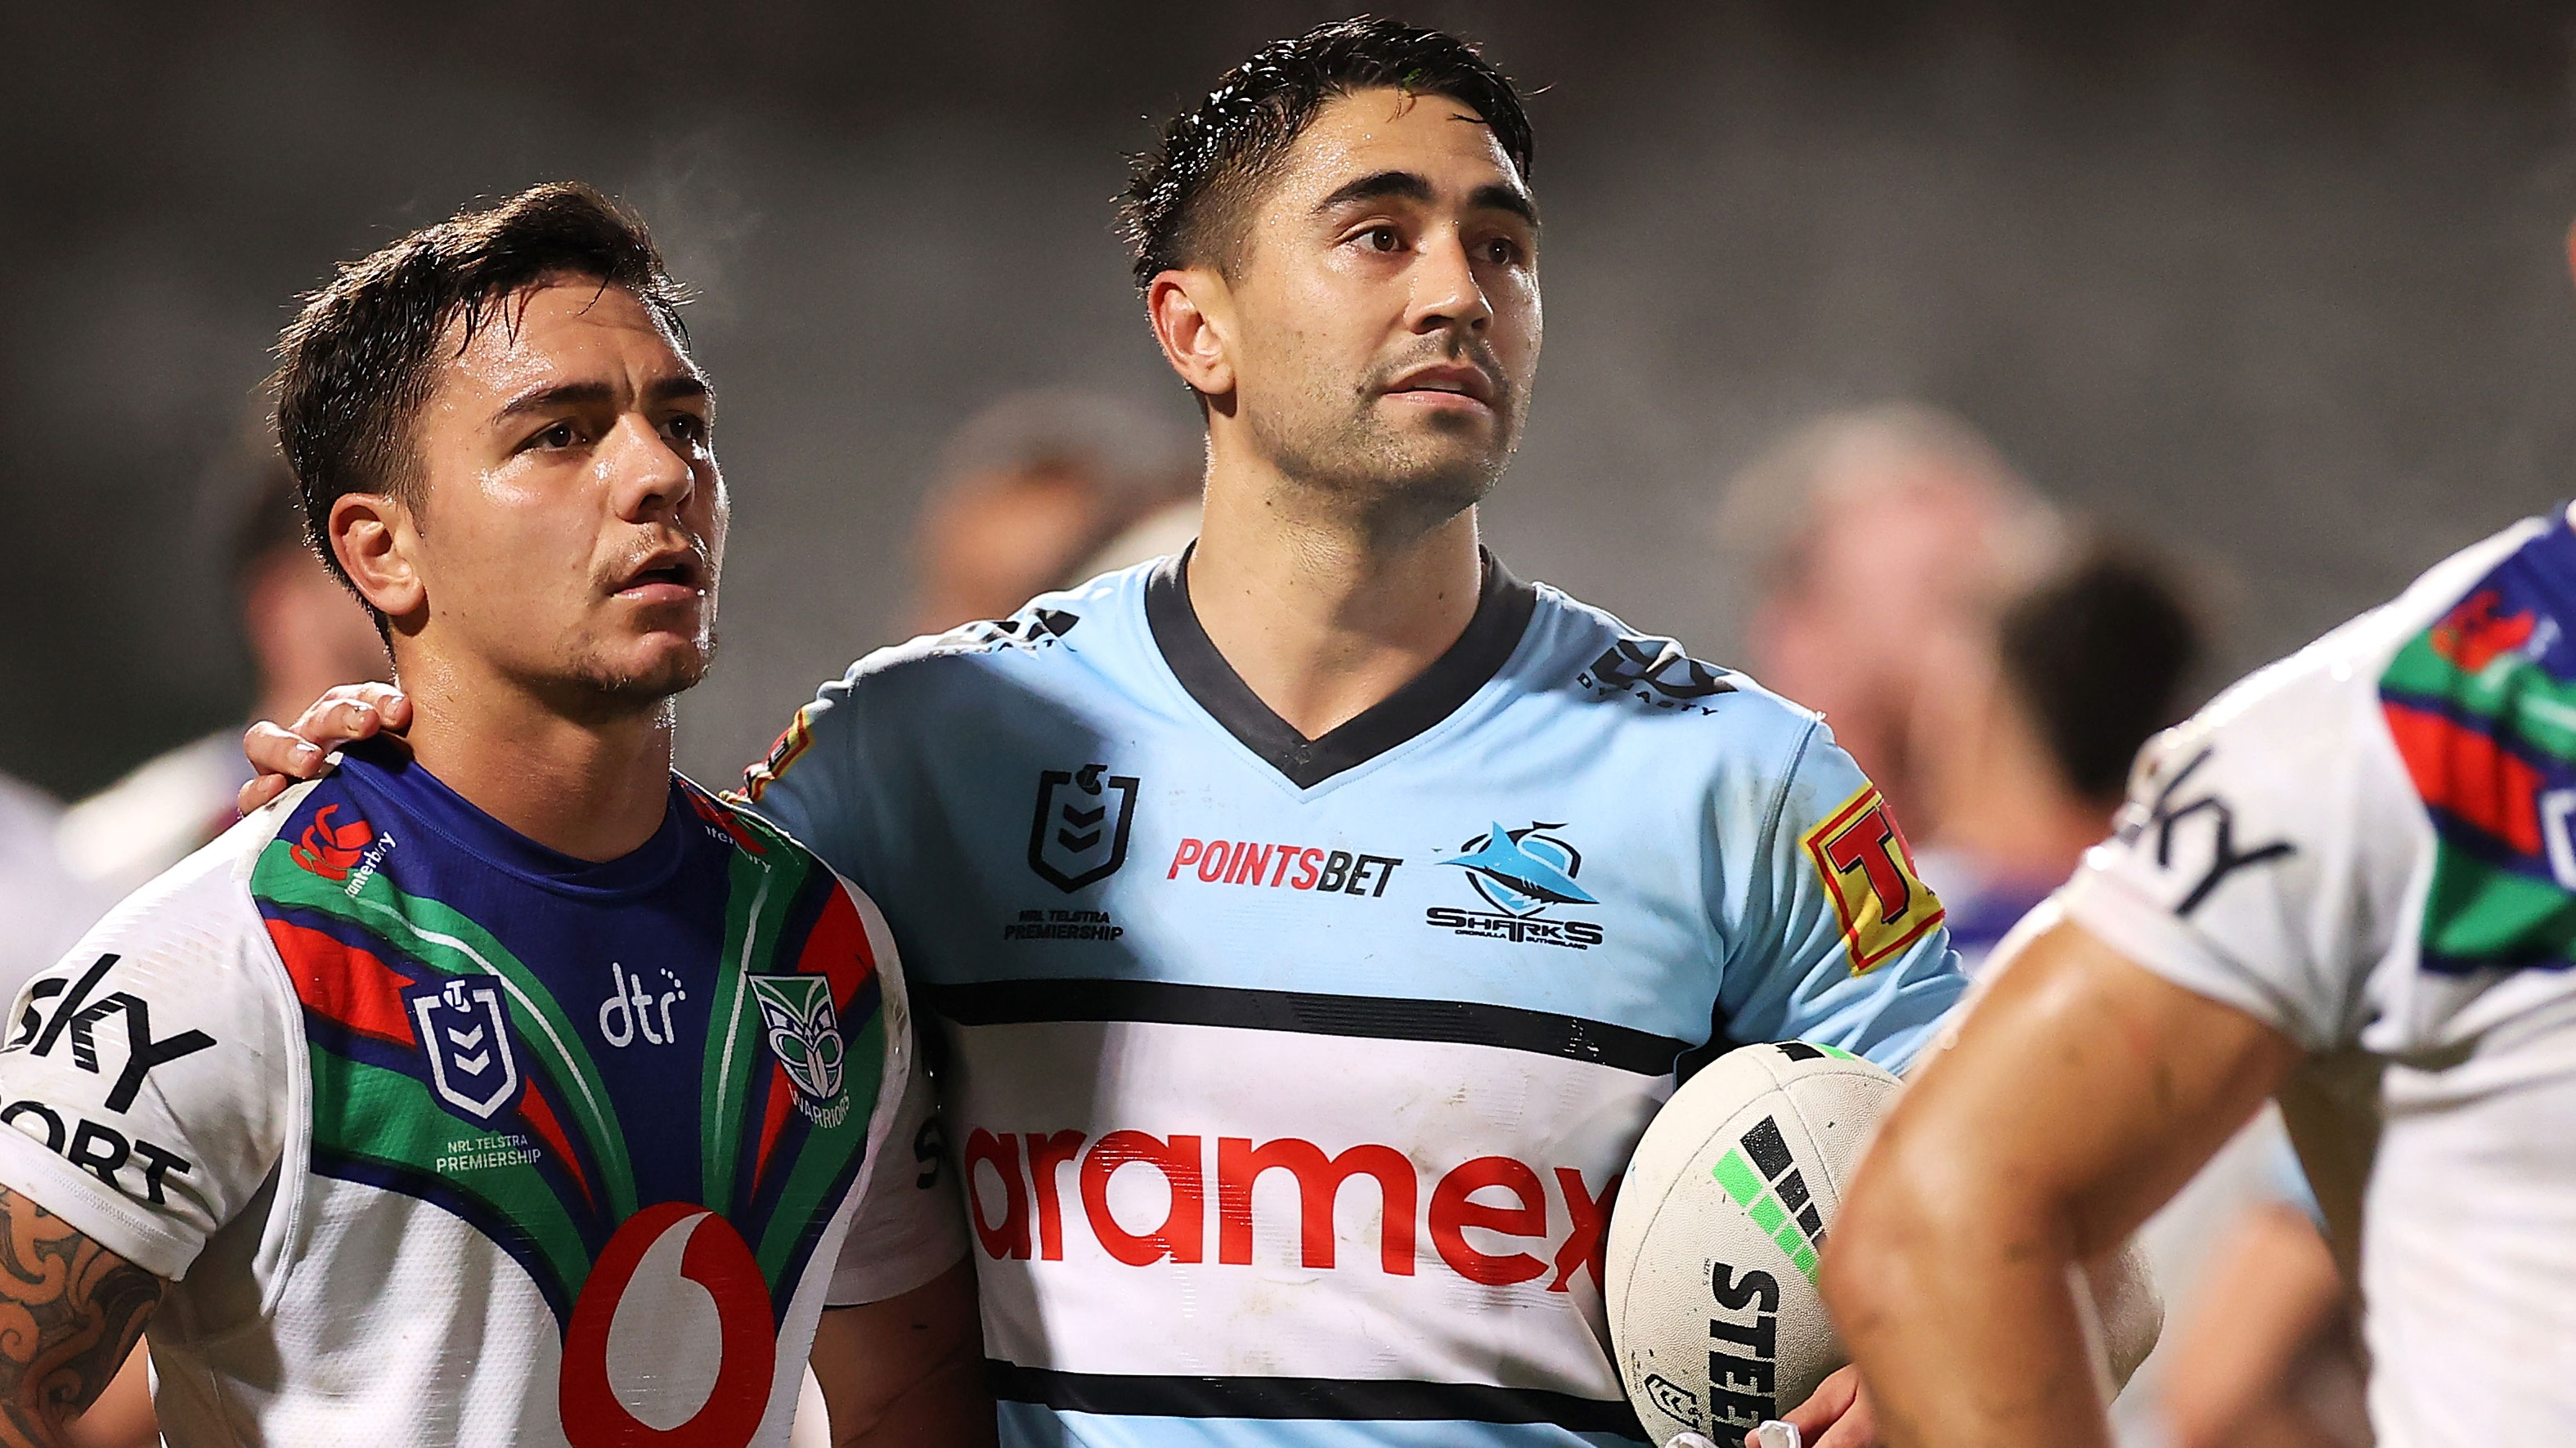
[(2133, 546), (2087, 546), (1984, 636), (1924, 642), (1945, 683), (1917, 737), (1917, 866), (1973, 971), (2110, 835), (2128, 765), (2190, 714), (2208, 652), (2182, 587)]

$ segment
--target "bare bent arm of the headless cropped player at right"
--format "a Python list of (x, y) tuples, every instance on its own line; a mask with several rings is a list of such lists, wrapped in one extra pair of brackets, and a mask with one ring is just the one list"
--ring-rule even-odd
[(1862, 1162), (1824, 1293), (1901, 1448), (2110, 1445), (2076, 1262), (2123, 1242), (2298, 1062), (2081, 925), (2040, 935)]

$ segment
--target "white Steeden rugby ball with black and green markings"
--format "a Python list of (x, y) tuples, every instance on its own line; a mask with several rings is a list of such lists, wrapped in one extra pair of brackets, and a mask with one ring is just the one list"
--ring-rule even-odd
[(1850, 1360), (1816, 1252), (1896, 1087), (1832, 1046), (1741, 1046), (1646, 1126), (1610, 1211), (1602, 1304), (1649, 1443), (1741, 1443)]

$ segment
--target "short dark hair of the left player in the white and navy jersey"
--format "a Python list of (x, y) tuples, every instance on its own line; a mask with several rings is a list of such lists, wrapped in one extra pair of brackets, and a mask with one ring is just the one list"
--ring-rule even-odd
[[(407, 497), (407, 430), (435, 384), (438, 343), (466, 340), (502, 301), (549, 276), (634, 291), (685, 343), (685, 289), (662, 268), (644, 222), (577, 180), (531, 186), (487, 211), (422, 227), (340, 268), (278, 338), (278, 451), (296, 474), (304, 531), (330, 549), (330, 510), (350, 492)], [(381, 618), (379, 618), (381, 624)]]

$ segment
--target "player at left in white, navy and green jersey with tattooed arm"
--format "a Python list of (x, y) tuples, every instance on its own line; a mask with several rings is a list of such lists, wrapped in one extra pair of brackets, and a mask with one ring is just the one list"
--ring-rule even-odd
[(149, 1324), (191, 1445), (989, 1440), (873, 907), (670, 770), (714, 397), (644, 229), (541, 186), (289, 327), (312, 538), (420, 701), (129, 897), (0, 1046), (0, 1443)]

